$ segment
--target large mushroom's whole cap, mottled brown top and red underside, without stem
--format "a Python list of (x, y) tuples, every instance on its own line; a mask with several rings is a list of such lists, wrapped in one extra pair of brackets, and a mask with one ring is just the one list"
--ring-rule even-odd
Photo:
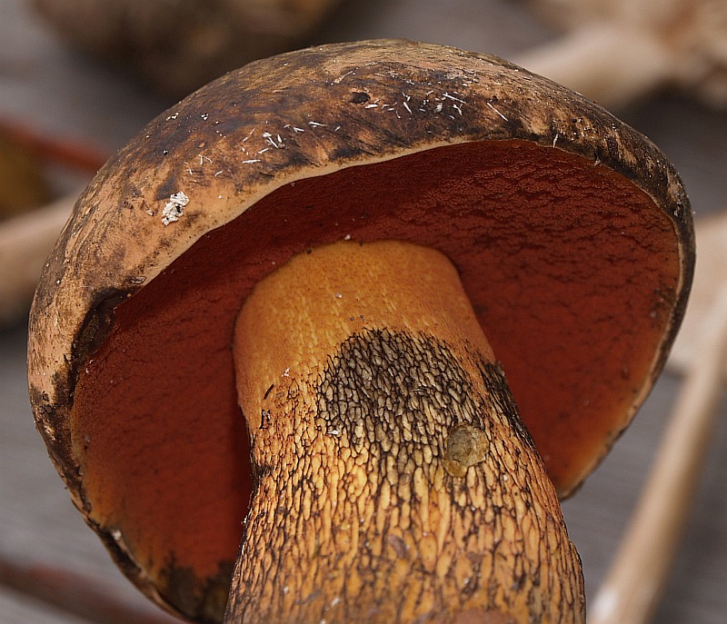
[(29, 384), (87, 522), (189, 619), (222, 618), (253, 487), (236, 312), (292, 255), (347, 237), (454, 262), (562, 496), (650, 390), (694, 262), (663, 154), (492, 56), (314, 47), (159, 116), (98, 173), (45, 266)]

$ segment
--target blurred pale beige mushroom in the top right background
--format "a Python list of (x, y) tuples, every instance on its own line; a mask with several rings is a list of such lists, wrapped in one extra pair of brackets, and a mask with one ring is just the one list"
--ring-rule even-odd
[(727, 3), (723, 0), (533, 0), (567, 31), (518, 63), (593, 98), (621, 106), (678, 86), (727, 103)]

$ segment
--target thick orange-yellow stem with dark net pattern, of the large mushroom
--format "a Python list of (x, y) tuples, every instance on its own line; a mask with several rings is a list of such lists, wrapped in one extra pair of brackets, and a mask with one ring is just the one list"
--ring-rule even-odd
[(226, 622), (584, 621), (553, 484), (442, 253), (302, 253), (234, 354), (256, 489)]

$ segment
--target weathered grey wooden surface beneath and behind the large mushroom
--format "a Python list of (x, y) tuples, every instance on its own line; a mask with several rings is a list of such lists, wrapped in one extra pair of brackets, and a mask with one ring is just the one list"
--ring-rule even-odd
[[(320, 41), (405, 36), (516, 57), (553, 33), (505, 0), (350, 0)], [(67, 52), (21, 0), (0, 0), (0, 118), (112, 150), (172, 103)], [(698, 214), (727, 207), (727, 114), (660, 94), (619, 114), (677, 164)], [(593, 596), (628, 520), (680, 378), (657, 384), (632, 428), (572, 500), (566, 521)], [(727, 401), (656, 621), (722, 624), (727, 616)], [(25, 388), (25, 321), (0, 329), (0, 554), (42, 561), (144, 599), (116, 572), (72, 508), (35, 432)], [(153, 607), (148, 607), (153, 612)], [(0, 623), (80, 622), (0, 587)]]

